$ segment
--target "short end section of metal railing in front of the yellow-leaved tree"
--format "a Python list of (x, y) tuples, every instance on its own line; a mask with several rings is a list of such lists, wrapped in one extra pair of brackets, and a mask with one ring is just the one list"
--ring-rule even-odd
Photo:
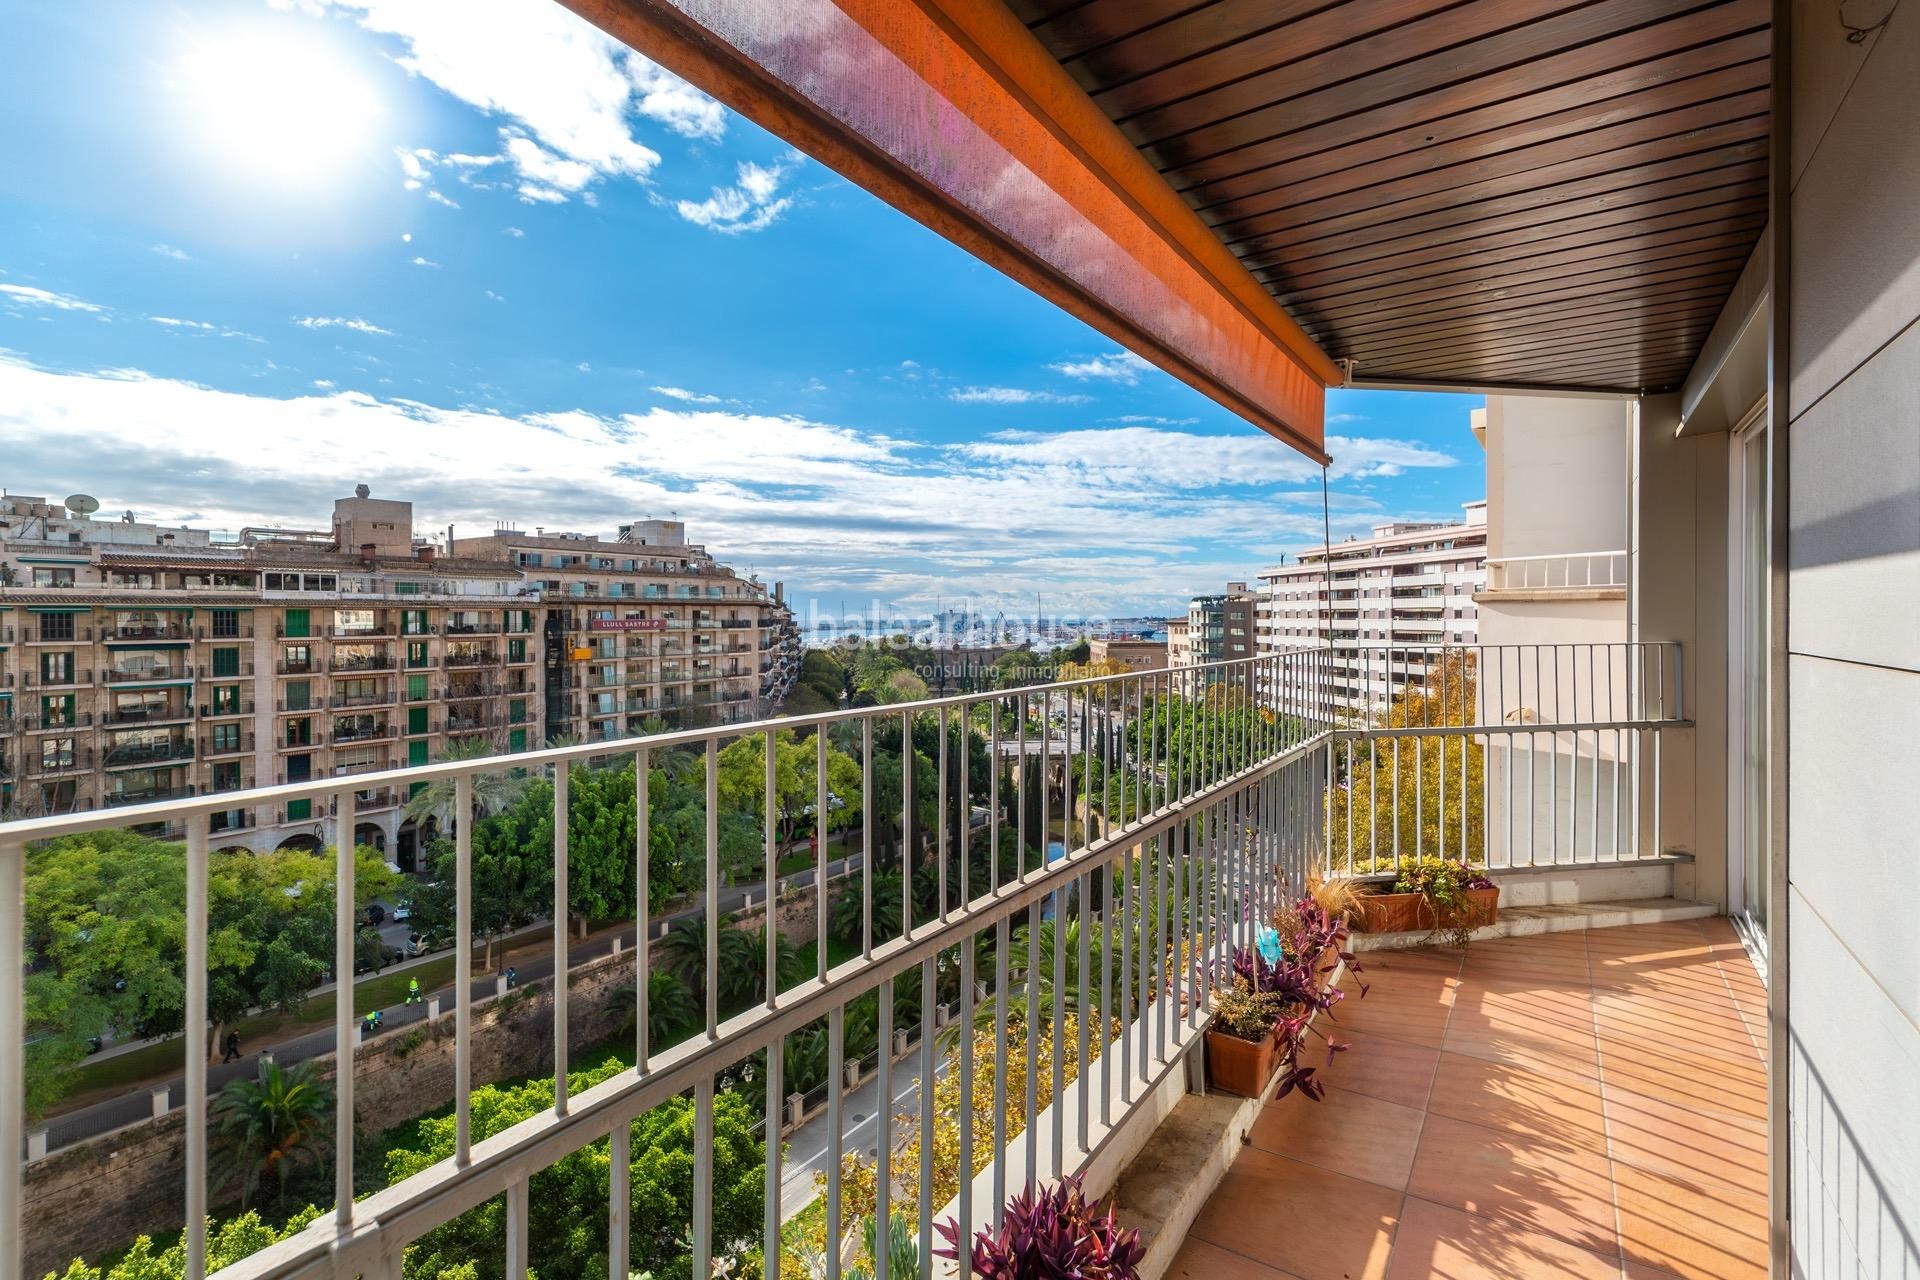
[(1661, 745), (1690, 723), (1678, 643), (1359, 649), (1336, 681), (1332, 871), (1665, 854)]

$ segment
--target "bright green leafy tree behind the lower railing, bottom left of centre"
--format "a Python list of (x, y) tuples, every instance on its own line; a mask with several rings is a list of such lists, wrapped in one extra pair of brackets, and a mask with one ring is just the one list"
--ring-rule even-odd
[[(568, 1092), (584, 1092), (622, 1069), (618, 1059), (568, 1073)], [(516, 1086), (490, 1084), (472, 1094), (474, 1142), (492, 1138), (553, 1107), (553, 1080)], [(712, 1244), (714, 1257), (739, 1263), (758, 1249), (766, 1157), (755, 1134), (755, 1115), (732, 1090), (714, 1096), (712, 1109)], [(693, 1219), (693, 1102), (672, 1098), (634, 1123), (632, 1153), (632, 1267), (672, 1280), (691, 1280), (687, 1222)], [(386, 1155), (392, 1182), (453, 1155), (453, 1117), (419, 1121), (417, 1138)], [(541, 1280), (588, 1280), (607, 1274), (607, 1194), (611, 1151), (607, 1142), (561, 1157), (532, 1174), (530, 1253), (541, 1261)], [(470, 1267), (472, 1280), (503, 1280), (507, 1217), (501, 1199), (490, 1199), (444, 1222), (413, 1245), (403, 1259), (407, 1280), (438, 1280)], [(705, 1278), (701, 1278), (705, 1280)]]

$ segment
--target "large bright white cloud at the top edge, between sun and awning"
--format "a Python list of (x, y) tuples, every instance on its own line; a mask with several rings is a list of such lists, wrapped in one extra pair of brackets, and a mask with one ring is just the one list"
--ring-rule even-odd
[[(367, 31), (392, 36), (397, 46), (394, 59), (409, 73), (472, 107), (513, 121), (511, 132), (540, 148), (541, 157), (534, 163), (586, 167), (588, 178), (574, 186), (522, 169), (526, 182), (549, 192), (582, 190), (595, 178), (651, 175), (660, 155), (634, 136), (636, 117), (657, 121), (685, 138), (712, 140), (726, 132), (728, 117), (718, 102), (559, 4), (294, 2), (309, 12), (344, 12)], [(497, 159), (445, 157), (455, 165)], [(520, 159), (515, 155), (516, 165)], [(415, 180), (413, 175), (409, 180)]]

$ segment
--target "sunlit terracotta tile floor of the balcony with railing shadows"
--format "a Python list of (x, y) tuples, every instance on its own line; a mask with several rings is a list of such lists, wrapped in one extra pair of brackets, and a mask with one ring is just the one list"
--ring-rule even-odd
[(1327, 1102), (1263, 1109), (1175, 1280), (1766, 1274), (1766, 996), (1724, 919), (1363, 963)]

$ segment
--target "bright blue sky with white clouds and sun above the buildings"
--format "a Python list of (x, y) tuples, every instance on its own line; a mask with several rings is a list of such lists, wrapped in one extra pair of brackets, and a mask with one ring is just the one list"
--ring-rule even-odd
[[(1164, 610), (1319, 541), (1315, 466), (549, 0), (6, 31), (12, 491), (678, 514), (803, 601), (916, 612)], [(1332, 393), (1334, 535), (1480, 497), (1475, 403)]]

